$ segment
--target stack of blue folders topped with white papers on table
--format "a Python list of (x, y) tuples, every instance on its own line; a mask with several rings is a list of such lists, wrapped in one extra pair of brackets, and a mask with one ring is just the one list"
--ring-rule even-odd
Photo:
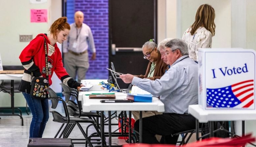
[(137, 86), (132, 86), (131, 93), (127, 94), (127, 99), (134, 102), (152, 102), (152, 94)]

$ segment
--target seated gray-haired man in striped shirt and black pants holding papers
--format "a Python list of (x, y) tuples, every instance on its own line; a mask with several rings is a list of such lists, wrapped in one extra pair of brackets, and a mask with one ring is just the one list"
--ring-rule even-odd
[[(198, 65), (189, 58), (188, 48), (182, 39), (172, 39), (165, 44), (166, 63), (170, 69), (155, 81), (130, 74), (120, 75), (125, 83), (132, 83), (153, 95), (160, 95), (164, 103), (163, 114), (142, 118), (142, 142), (159, 143), (155, 135), (171, 136), (195, 129), (195, 118), (188, 114), (188, 106), (198, 104)], [(139, 120), (134, 129), (139, 131)], [(168, 139), (176, 144), (178, 136)]]

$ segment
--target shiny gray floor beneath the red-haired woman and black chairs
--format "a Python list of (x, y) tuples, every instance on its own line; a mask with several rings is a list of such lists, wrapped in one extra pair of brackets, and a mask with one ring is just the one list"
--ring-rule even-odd
[[(61, 106), (61, 105), (60, 105)], [(59, 107), (59, 105), (58, 105)], [(61, 108), (57, 108), (61, 109)], [(60, 111), (60, 110), (57, 110)], [(29, 140), (29, 126), (32, 119), (32, 115), (22, 114), (24, 119), (24, 126), (21, 126), (21, 119), (18, 116), (0, 116), (0, 147), (26, 147)], [(46, 128), (43, 134), (43, 138), (53, 138), (60, 128), (61, 124), (52, 121), (53, 117), (50, 113), (49, 121), (46, 124)], [(116, 119), (112, 119), (112, 123), (117, 123)], [(81, 124), (82, 127), (86, 128), (88, 124)], [(116, 130), (118, 127), (113, 126), (112, 130)], [(105, 131), (108, 128), (105, 127)], [(90, 127), (89, 133), (95, 132), (93, 127)], [(70, 138), (84, 138), (79, 128), (75, 126), (72, 131)], [(108, 139), (106, 139), (108, 142)], [(112, 145), (123, 145), (128, 144), (124, 139), (112, 138)], [(85, 146), (84, 144), (74, 144), (75, 147)], [(94, 144), (95, 146), (95, 144)]]

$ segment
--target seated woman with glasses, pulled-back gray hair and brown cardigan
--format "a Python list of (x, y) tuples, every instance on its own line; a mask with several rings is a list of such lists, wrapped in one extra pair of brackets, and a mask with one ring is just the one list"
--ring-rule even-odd
[(157, 50), (157, 44), (154, 39), (150, 39), (142, 46), (143, 58), (149, 60), (145, 75), (138, 75), (139, 78), (148, 78), (151, 80), (160, 79), (165, 73), (167, 65), (161, 60), (161, 54)]

